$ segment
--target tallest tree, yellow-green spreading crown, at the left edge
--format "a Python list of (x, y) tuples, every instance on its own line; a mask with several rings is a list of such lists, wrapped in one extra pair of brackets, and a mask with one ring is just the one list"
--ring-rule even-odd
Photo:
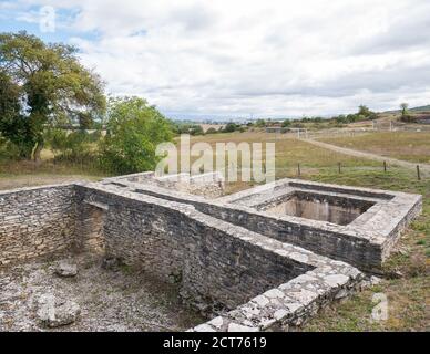
[(18, 145), (22, 157), (40, 158), (48, 126), (88, 124), (103, 114), (102, 81), (80, 64), (76, 52), (27, 32), (0, 33), (0, 80), (7, 93), (1, 97), (0, 133)]

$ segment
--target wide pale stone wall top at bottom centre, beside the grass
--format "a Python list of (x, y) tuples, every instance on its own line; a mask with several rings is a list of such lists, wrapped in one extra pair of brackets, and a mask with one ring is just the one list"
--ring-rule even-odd
[(360, 288), (364, 273), (346, 267), (350, 274), (337, 273), (336, 269), (329, 267), (317, 268), (190, 331), (254, 332), (299, 326), (328, 303), (348, 296)]

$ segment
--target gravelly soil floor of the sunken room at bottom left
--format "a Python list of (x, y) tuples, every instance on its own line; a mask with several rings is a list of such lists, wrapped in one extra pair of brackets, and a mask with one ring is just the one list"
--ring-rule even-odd
[[(175, 284), (161, 283), (129, 268), (105, 270), (92, 254), (62, 256), (78, 263), (74, 278), (54, 274), (55, 259), (0, 269), (1, 331), (184, 331), (205, 319), (181, 304)], [(38, 316), (41, 295), (81, 306), (80, 319), (50, 330)]]

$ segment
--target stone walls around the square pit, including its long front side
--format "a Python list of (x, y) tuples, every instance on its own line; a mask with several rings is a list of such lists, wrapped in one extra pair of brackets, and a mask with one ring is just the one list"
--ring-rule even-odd
[[(304, 188), (306, 195), (310, 194), (307, 191), (310, 190), (310, 187), (305, 184), (296, 186), (289, 179), (278, 183), (279, 186), (276, 188), (265, 185), (264, 188), (257, 187), (254, 190), (238, 192), (238, 196), (224, 197), (214, 201), (175, 191), (166, 192), (162, 188), (149, 188), (145, 185), (130, 184), (126, 188), (149, 196), (192, 205), (198, 211), (219, 220), (281, 242), (303, 247), (318, 254), (346, 261), (361, 270), (375, 273), (380, 273), (381, 266), (388, 258), (400, 231), (420, 214), (422, 208), (422, 197), (419, 195), (382, 192), (364, 188), (358, 188), (357, 194), (352, 194), (355, 189), (351, 187), (339, 187), (337, 190), (332, 185), (309, 183), (309, 186), (315, 185), (318, 191), (332, 194), (327, 198), (335, 198), (336, 192), (332, 190), (337, 190), (340, 194), (340, 201), (349, 199), (351, 206), (364, 208), (360, 212), (365, 212), (348, 225), (336, 225), (257, 210), (258, 206), (266, 206), (268, 200), (272, 202), (274, 196), (283, 200), (286, 194), (303, 194), (303, 190), (295, 189), (298, 186), (306, 187)], [(345, 195), (347, 191), (350, 191), (350, 198)], [(246, 205), (232, 204), (238, 197), (247, 199)]]

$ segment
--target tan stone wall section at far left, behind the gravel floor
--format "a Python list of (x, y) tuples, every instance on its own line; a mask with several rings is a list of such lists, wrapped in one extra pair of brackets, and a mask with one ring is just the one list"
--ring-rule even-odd
[(73, 185), (0, 191), (0, 266), (70, 247), (74, 226)]

